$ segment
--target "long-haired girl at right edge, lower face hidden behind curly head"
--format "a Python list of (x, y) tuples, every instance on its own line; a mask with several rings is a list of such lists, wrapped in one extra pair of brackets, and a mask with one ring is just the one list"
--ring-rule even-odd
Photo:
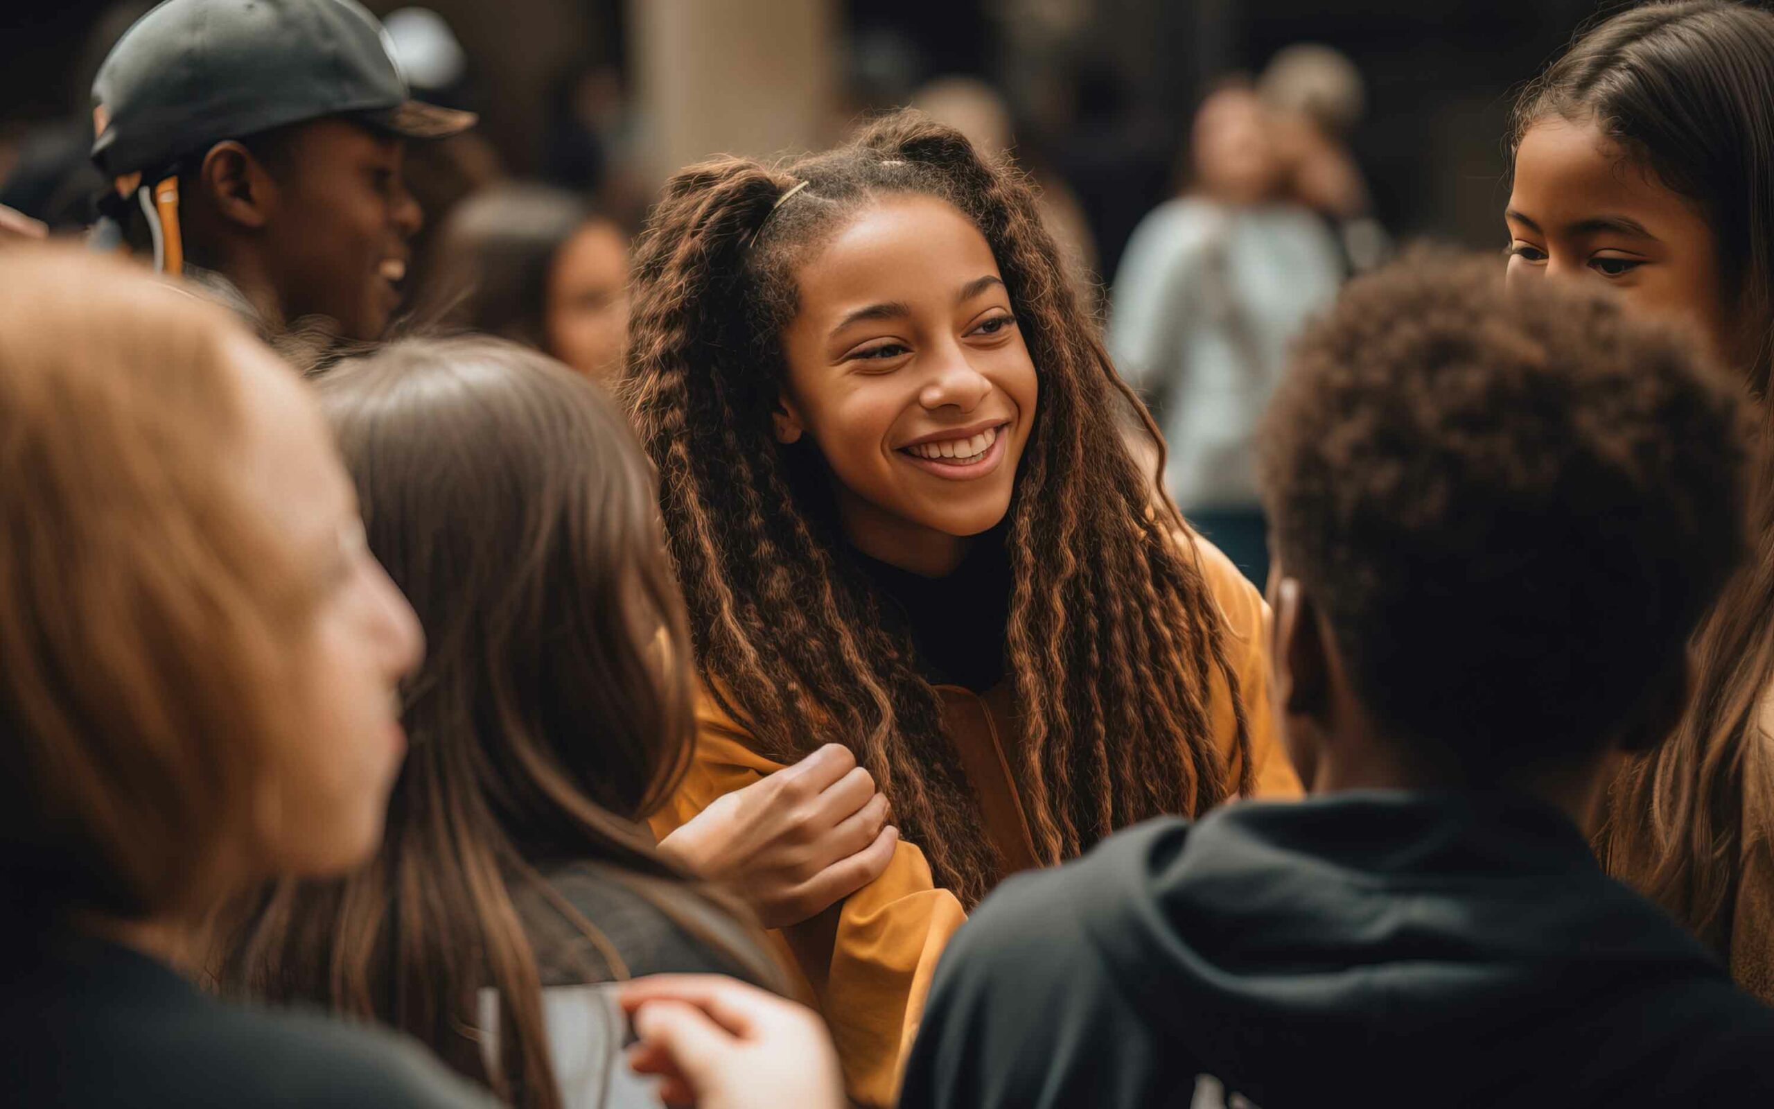
[(1529, 85), (1511, 151), (1511, 282), (1605, 284), (1763, 401), (1754, 559), (1696, 641), (1687, 719), (1623, 767), (1597, 843), (1774, 1001), (1774, 14), (1692, 0), (1598, 25)]

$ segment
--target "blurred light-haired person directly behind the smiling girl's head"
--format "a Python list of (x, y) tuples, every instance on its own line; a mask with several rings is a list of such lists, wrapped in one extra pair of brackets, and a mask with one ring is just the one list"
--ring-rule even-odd
[(910, 106), (967, 135), (967, 140), (981, 154), (988, 158), (1009, 156), (1029, 174), (1036, 190), (1034, 202), (1041, 209), (1041, 224), (1059, 247), (1071, 289), (1089, 311), (1096, 311), (1102, 300), (1102, 280), (1096, 271), (1096, 241), (1084, 220), (1084, 209), (1061, 177), (1056, 177), (1052, 170), (1031, 156), (1031, 151), (1017, 144), (1004, 96), (974, 76), (942, 76), (919, 89), (912, 96)]

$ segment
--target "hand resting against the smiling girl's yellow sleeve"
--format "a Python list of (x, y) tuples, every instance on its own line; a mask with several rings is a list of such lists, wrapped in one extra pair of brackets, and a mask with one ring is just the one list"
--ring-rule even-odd
[(887, 869), (899, 830), (887, 797), (850, 749), (802, 761), (715, 800), (660, 841), (660, 852), (726, 882), (765, 928), (788, 928), (848, 898)]

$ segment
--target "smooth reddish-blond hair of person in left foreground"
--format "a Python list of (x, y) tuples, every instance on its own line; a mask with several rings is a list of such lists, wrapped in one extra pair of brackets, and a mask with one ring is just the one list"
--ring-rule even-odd
[(50, 916), (200, 910), (309, 603), (218, 461), (248, 339), (67, 248), (0, 252), (0, 885)]

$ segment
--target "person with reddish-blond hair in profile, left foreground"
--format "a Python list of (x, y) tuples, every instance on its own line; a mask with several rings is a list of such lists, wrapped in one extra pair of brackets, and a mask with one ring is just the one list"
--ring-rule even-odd
[(225, 1006), (204, 923), (381, 838), (412, 609), (296, 374), (222, 309), (0, 252), (0, 990), (21, 1105), (483, 1105), (410, 1042)]

